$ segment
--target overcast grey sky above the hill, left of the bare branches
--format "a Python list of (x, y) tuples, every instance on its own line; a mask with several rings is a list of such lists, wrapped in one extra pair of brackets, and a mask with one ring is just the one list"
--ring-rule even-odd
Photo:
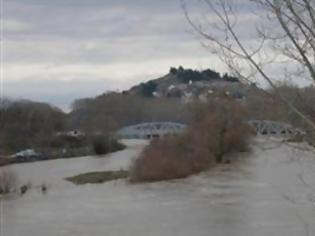
[[(171, 66), (225, 72), (192, 33), (180, 0), (0, 1), (2, 92), (11, 98), (67, 109), (76, 98), (127, 89)], [(189, 7), (192, 15), (203, 10)], [(243, 10), (247, 32), (253, 19)]]

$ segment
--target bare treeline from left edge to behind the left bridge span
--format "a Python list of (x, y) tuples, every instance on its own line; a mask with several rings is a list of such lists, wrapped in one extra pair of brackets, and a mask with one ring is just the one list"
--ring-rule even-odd
[[(0, 156), (30, 148), (41, 152), (64, 148), (76, 151), (93, 143), (96, 136), (109, 135), (126, 125), (189, 120), (189, 113), (179, 100), (114, 92), (77, 100), (69, 114), (45, 103), (5, 100), (0, 115)], [(82, 131), (85, 137), (58, 135), (74, 130)]]

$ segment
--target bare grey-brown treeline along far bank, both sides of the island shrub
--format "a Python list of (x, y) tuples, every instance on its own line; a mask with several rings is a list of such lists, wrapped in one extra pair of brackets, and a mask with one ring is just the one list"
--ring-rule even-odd
[[(314, 87), (298, 88), (284, 84), (279, 89), (292, 104), (315, 121)], [(307, 125), (279, 100), (272, 89), (252, 88), (241, 103), (246, 111), (245, 119), (284, 121), (308, 131)], [(65, 114), (49, 104), (5, 100), (0, 106), (0, 156), (36, 147), (61, 149), (64, 142), (55, 139), (60, 131), (79, 130), (99, 135), (141, 122), (189, 124), (192, 106), (194, 104), (186, 105), (176, 98), (148, 98), (111, 92), (77, 100), (72, 111)], [(311, 136), (315, 137), (314, 134)], [(77, 142), (67, 143), (66, 146), (72, 147)]]

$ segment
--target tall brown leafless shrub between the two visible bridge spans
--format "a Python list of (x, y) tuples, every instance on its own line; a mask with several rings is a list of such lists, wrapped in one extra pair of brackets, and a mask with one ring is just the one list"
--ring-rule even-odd
[(196, 145), (210, 149), (216, 162), (223, 156), (247, 150), (251, 128), (244, 122), (243, 107), (230, 99), (200, 104), (195, 110), (190, 133), (199, 140)]

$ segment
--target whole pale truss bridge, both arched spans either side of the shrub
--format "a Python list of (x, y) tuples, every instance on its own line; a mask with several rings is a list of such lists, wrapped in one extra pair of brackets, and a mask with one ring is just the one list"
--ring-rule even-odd
[[(270, 120), (250, 120), (247, 123), (254, 128), (257, 135), (290, 138), (303, 136), (304, 131), (290, 124)], [(126, 126), (116, 132), (118, 138), (152, 139), (170, 135), (179, 135), (187, 128), (186, 125), (174, 122), (147, 122)]]

